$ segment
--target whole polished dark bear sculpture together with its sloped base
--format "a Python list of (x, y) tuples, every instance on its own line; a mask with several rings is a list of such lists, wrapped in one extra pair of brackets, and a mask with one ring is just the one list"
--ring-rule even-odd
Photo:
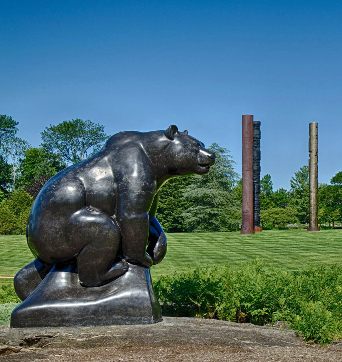
[(11, 327), (145, 324), (161, 320), (150, 267), (166, 236), (155, 215), (170, 178), (205, 174), (215, 154), (171, 125), (120, 132), (40, 190), (27, 224), (35, 260), (14, 278), (23, 300)]

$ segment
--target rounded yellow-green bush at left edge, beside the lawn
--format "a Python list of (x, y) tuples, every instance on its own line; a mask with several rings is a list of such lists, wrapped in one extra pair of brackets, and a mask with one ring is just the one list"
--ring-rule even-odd
[(33, 197), (26, 191), (15, 190), (0, 204), (0, 235), (25, 234)]

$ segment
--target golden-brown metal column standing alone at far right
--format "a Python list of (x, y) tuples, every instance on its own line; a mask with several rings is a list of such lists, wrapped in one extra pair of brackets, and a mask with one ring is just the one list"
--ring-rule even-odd
[(318, 227), (318, 123), (309, 123), (309, 227), (308, 231), (320, 231)]

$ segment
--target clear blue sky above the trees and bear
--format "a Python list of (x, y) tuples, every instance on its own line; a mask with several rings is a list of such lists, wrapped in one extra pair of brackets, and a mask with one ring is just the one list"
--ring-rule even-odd
[(342, 169), (341, 1), (3, 1), (0, 114), (32, 146), (65, 119), (108, 134), (176, 124), (230, 149), (261, 121), (261, 174), (289, 189), (319, 123), (319, 182)]

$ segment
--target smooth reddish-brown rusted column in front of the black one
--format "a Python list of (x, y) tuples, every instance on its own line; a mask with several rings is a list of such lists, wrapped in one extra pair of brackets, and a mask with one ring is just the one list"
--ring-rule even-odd
[(242, 234), (254, 234), (253, 115), (242, 116)]

